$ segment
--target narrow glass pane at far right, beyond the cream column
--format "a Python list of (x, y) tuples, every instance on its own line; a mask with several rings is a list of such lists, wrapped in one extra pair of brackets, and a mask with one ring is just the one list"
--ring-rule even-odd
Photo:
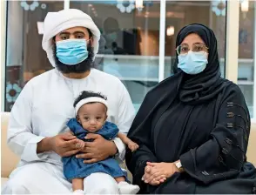
[(239, 67), (238, 84), (246, 98), (251, 118), (254, 118), (253, 102), (256, 97), (254, 77), (256, 48), (256, 2), (243, 0), (239, 10)]

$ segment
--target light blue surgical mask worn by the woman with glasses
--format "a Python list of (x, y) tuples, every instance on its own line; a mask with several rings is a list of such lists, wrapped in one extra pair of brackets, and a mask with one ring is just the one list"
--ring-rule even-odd
[(199, 74), (205, 70), (206, 64), (208, 64), (205, 51), (193, 52), (189, 50), (187, 54), (179, 55), (178, 59), (178, 68), (189, 75)]

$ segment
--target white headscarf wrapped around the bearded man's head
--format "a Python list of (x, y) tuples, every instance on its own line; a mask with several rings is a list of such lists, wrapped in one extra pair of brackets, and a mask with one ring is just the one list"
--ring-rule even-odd
[(58, 12), (49, 12), (44, 19), (44, 37), (42, 47), (47, 53), (47, 57), (52, 66), (56, 67), (52, 50), (52, 37), (56, 36), (63, 30), (72, 27), (85, 27), (91, 30), (93, 35), (93, 51), (94, 55), (98, 53), (98, 40), (100, 38), (100, 31), (94, 24), (91, 17), (81, 10), (67, 9)]

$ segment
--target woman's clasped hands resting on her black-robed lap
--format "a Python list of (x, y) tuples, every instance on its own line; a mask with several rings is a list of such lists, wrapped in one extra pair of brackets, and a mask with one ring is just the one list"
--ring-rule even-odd
[(170, 178), (174, 172), (179, 172), (179, 169), (174, 163), (147, 162), (143, 179), (145, 183), (158, 185), (160, 182), (164, 182), (163, 179)]

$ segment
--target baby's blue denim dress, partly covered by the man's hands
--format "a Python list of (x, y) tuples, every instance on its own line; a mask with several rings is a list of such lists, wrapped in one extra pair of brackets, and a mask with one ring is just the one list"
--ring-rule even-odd
[[(92, 141), (84, 139), (89, 131), (84, 130), (82, 125), (77, 122), (76, 118), (72, 118), (67, 125), (77, 138), (83, 141)], [(111, 140), (117, 137), (118, 127), (116, 124), (106, 121), (102, 129), (95, 133), (103, 136), (105, 139)], [(104, 172), (111, 175), (112, 178), (125, 177), (126, 179), (125, 172), (122, 171), (117, 160), (114, 158), (107, 158), (92, 164), (84, 164), (84, 159), (76, 158), (76, 155), (64, 157), (62, 160), (64, 163), (64, 176), (70, 181), (72, 178), (86, 178), (94, 172)]]

